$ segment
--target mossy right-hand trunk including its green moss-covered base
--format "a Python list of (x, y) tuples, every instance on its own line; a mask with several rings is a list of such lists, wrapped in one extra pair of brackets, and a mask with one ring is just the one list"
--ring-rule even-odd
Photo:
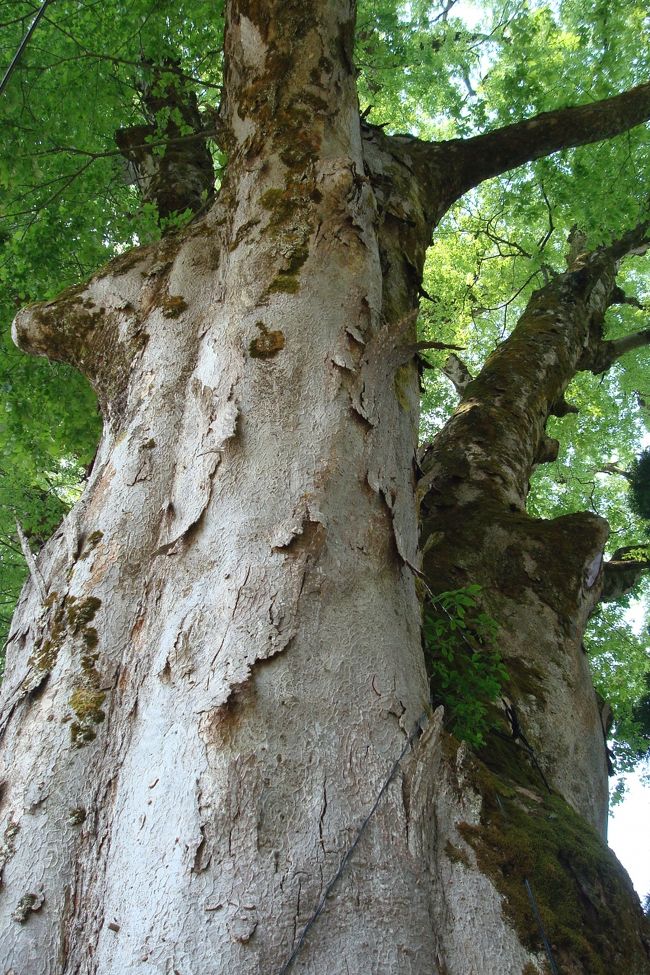
[(604, 842), (605, 729), (582, 648), (606, 592), (608, 526), (588, 512), (531, 518), (526, 495), (549, 415), (575, 373), (600, 361), (617, 261), (645, 237), (642, 225), (537, 292), (422, 459), (429, 591), (482, 587), (510, 674), (472, 766), (481, 822), (460, 832), (522, 943), (541, 950), (526, 883), (537, 891), (557, 963), (571, 972), (647, 971), (650, 942)]

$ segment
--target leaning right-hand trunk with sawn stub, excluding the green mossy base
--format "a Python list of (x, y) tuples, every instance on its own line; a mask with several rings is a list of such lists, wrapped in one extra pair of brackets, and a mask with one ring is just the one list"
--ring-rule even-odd
[[(588, 512), (545, 522), (525, 507), (534, 466), (557, 454), (545, 433), (548, 417), (576, 372), (600, 362), (617, 262), (643, 248), (646, 232), (641, 224), (583, 255), (533, 295), (421, 459), (426, 575), (435, 592), (480, 583), (499, 607), (492, 612), (509, 620), (506, 656), (540, 676), (536, 702), (525, 694), (517, 702), (531, 726), (526, 734), (549, 780), (603, 835), (606, 761), (581, 646), (602, 592), (608, 528)], [(444, 531), (436, 530), (440, 522)], [(590, 717), (572, 709), (578, 687)], [(571, 726), (572, 713), (578, 726)]]

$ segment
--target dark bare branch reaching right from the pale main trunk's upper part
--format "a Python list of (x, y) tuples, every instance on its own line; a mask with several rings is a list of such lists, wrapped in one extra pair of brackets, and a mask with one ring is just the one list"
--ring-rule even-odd
[[(454, 167), (452, 199), (523, 163), (560, 149), (610, 139), (650, 119), (650, 84), (639, 85), (622, 95), (605, 98), (507, 125), (493, 132), (435, 146), (449, 154)], [(434, 148), (432, 146), (432, 148)]]

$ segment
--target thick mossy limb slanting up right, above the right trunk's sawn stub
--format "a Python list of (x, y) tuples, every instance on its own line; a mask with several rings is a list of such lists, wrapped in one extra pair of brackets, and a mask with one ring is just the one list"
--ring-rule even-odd
[(429, 492), (451, 495), (460, 476), (474, 502), (481, 497), (525, 510), (533, 467), (557, 457), (557, 442), (545, 434), (549, 414), (567, 412), (567, 386), (578, 370), (591, 367), (616, 288), (617, 261), (645, 247), (647, 230), (640, 223), (534, 292), (512, 334), (466, 387), (435, 449), (422, 458), (423, 500)]

